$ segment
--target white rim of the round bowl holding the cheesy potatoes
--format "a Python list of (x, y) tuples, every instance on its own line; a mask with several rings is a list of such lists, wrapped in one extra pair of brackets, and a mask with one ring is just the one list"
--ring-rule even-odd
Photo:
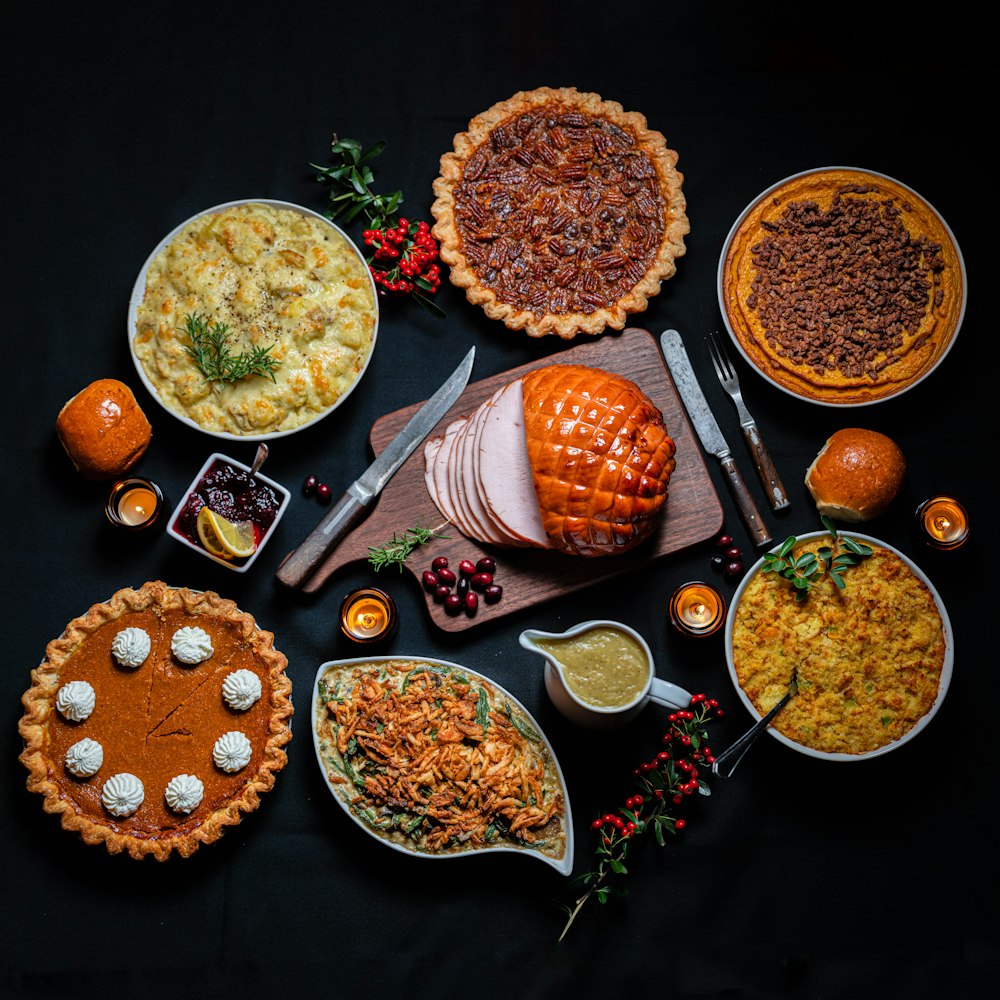
[[(347, 390), (337, 398), (336, 402), (334, 402), (332, 406), (328, 407), (322, 413), (316, 414), (316, 416), (314, 416), (311, 420), (307, 421), (306, 423), (301, 424), (298, 427), (293, 427), (291, 430), (270, 431), (263, 434), (230, 434), (228, 431), (206, 430), (204, 427), (195, 423), (190, 417), (185, 416), (183, 413), (178, 413), (176, 410), (170, 409), (170, 407), (168, 407), (163, 402), (163, 400), (160, 398), (160, 394), (156, 391), (156, 386), (154, 386), (152, 381), (150, 381), (149, 376), (146, 374), (146, 369), (143, 367), (142, 362), (139, 360), (139, 358), (135, 353), (135, 346), (133, 344), (133, 339), (135, 337), (135, 332), (136, 332), (139, 305), (141, 304), (142, 299), (146, 294), (146, 274), (149, 271), (149, 265), (156, 258), (157, 254), (159, 254), (166, 246), (168, 246), (170, 242), (182, 230), (184, 230), (196, 219), (200, 219), (203, 216), (207, 215), (214, 215), (217, 212), (225, 211), (226, 209), (233, 208), (237, 205), (270, 205), (274, 208), (287, 209), (292, 212), (299, 212), (302, 215), (308, 216), (311, 219), (317, 219), (324, 225), (329, 226), (331, 229), (339, 233), (344, 238), (344, 240), (346, 240), (347, 245), (351, 247), (351, 249), (358, 255), (358, 258), (360, 259), (362, 266), (364, 268), (364, 272), (368, 277), (368, 282), (371, 286), (372, 302), (374, 303), (373, 308), (375, 311), (375, 328), (372, 331), (371, 349), (368, 352), (368, 357), (365, 359), (364, 366), (362, 367), (361, 371), (358, 372), (357, 378), (355, 378), (354, 382), (352, 382), (351, 385), (347, 388)], [(378, 305), (378, 295), (375, 289), (375, 281), (371, 276), (371, 272), (368, 270), (368, 265), (365, 262), (364, 255), (358, 249), (357, 244), (347, 235), (347, 233), (345, 233), (339, 226), (335, 225), (328, 218), (326, 218), (326, 216), (320, 215), (319, 212), (314, 212), (312, 209), (304, 208), (301, 205), (295, 205), (292, 202), (277, 201), (274, 198), (239, 198), (235, 201), (227, 201), (219, 205), (214, 205), (212, 208), (206, 208), (204, 211), (192, 215), (190, 219), (185, 219), (182, 223), (175, 226), (169, 233), (167, 233), (166, 236), (163, 237), (162, 240), (160, 240), (159, 243), (156, 244), (155, 247), (153, 247), (152, 252), (146, 258), (145, 263), (142, 265), (142, 269), (139, 271), (139, 277), (136, 278), (135, 285), (132, 288), (132, 295), (129, 298), (129, 304), (128, 304), (128, 322), (127, 322), (126, 334), (128, 336), (129, 353), (132, 356), (132, 362), (135, 365), (135, 370), (139, 375), (139, 380), (146, 387), (146, 389), (148, 390), (149, 394), (153, 397), (153, 399), (155, 399), (156, 402), (159, 403), (160, 406), (162, 406), (163, 409), (166, 410), (166, 412), (169, 413), (172, 417), (175, 417), (177, 420), (180, 420), (181, 423), (186, 424), (188, 427), (194, 428), (194, 430), (196, 431), (201, 431), (202, 434), (209, 434), (212, 437), (222, 438), (227, 441), (270, 441), (273, 440), (274, 438), (287, 437), (289, 434), (295, 434), (297, 431), (304, 430), (306, 427), (311, 427), (313, 424), (316, 423), (316, 421), (322, 420), (324, 417), (329, 416), (334, 410), (337, 409), (337, 407), (339, 407), (344, 402), (345, 399), (347, 399), (348, 396), (351, 395), (351, 393), (357, 388), (358, 384), (364, 377), (365, 372), (368, 370), (368, 367), (371, 364), (371, 359), (375, 354), (375, 343), (378, 339), (378, 327), (379, 327), (379, 305)]]

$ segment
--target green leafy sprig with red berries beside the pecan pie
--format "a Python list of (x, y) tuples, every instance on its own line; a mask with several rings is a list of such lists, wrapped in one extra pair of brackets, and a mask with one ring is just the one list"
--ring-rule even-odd
[(430, 226), (397, 214), (403, 203), (402, 191), (387, 195), (372, 191), (375, 175), (371, 161), (383, 149), (382, 141), (365, 149), (357, 139), (339, 139), (334, 135), (331, 146), (334, 166), (311, 164), (318, 171), (316, 179), (331, 186), (331, 208), (327, 215), (331, 219), (343, 216), (344, 222), (351, 222), (363, 213), (368, 228), (361, 235), (371, 248), (366, 260), (379, 292), (409, 295), (443, 316), (443, 310), (430, 298), (441, 284), (438, 243)]

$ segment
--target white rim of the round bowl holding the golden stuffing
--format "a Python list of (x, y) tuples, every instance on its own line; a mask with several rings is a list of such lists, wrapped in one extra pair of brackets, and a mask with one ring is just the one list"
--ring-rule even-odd
[[(934, 704), (931, 705), (927, 713), (917, 721), (916, 725), (914, 725), (912, 729), (904, 733), (898, 740), (894, 740), (892, 743), (887, 743), (885, 746), (878, 747), (875, 750), (870, 750), (867, 753), (830, 753), (823, 750), (814, 750), (812, 747), (807, 747), (802, 743), (796, 743), (795, 740), (789, 739), (784, 734), (779, 733), (773, 725), (768, 728), (768, 732), (779, 743), (784, 743), (785, 746), (791, 747), (799, 753), (807, 754), (810, 757), (819, 757), (823, 760), (834, 761), (870, 760), (872, 757), (881, 757), (883, 754), (896, 750), (904, 743), (909, 743), (914, 736), (923, 732), (930, 725), (931, 719), (937, 715), (938, 709), (940, 709), (941, 703), (944, 701), (945, 695), (948, 693), (948, 686), (951, 684), (951, 675), (955, 662), (955, 640), (951, 629), (951, 620), (948, 618), (948, 612), (945, 610), (944, 603), (941, 600), (941, 595), (935, 589), (934, 584), (932, 584), (924, 574), (923, 570), (921, 570), (908, 556), (903, 555), (903, 553), (898, 549), (893, 548), (893, 546), (886, 544), (880, 539), (873, 538), (871, 535), (862, 535), (855, 531), (841, 531), (840, 533), (848, 538), (855, 538), (861, 542), (878, 545), (883, 549), (887, 549), (889, 552), (895, 553), (895, 555), (902, 559), (902, 561), (909, 567), (913, 575), (916, 576), (917, 579), (920, 580), (930, 591), (931, 596), (934, 598), (934, 603), (937, 605), (938, 613), (941, 615), (941, 625), (944, 631), (944, 663), (941, 667), (941, 679), (938, 683), (937, 697), (934, 699)], [(829, 532), (827, 531), (811, 531), (797, 537), (800, 542), (805, 542), (812, 538), (822, 538), (827, 535), (829, 535)], [(773, 549), (771, 549), (771, 551), (776, 552), (779, 548), (780, 545), (776, 545)], [(733, 662), (733, 625), (736, 621), (736, 612), (739, 608), (740, 598), (743, 596), (743, 592), (746, 590), (750, 581), (757, 575), (757, 572), (763, 564), (764, 557), (761, 556), (760, 559), (758, 559), (757, 562), (750, 568), (746, 576), (744, 576), (740, 581), (739, 586), (736, 588), (736, 593), (733, 594), (729, 617), (726, 619), (726, 665), (729, 667), (729, 677), (733, 682), (733, 687), (736, 689), (736, 693), (739, 696), (740, 701), (743, 702), (746, 710), (751, 716), (753, 716), (755, 721), (760, 718), (760, 713), (756, 708), (754, 708), (753, 703), (747, 697), (743, 688), (740, 687), (739, 679), (736, 676), (736, 665)], [(850, 571), (848, 571), (848, 573), (849, 572)], [(850, 577), (846, 577), (846, 580), (847, 586), (850, 587)]]

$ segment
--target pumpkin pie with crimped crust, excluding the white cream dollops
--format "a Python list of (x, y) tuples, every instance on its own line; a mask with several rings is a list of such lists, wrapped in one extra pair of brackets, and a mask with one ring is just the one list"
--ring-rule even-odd
[[(135, 667), (112, 652), (115, 636), (130, 628), (150, 639), (148, 655)], [(181, 629), (208, 636), (211, 655), (197, 663), (179, 659), (171, 646)], [(44, 796), (46, 812), (59, 815), (65, 829), (88, 844), (103, 843), (111, 854), (163, 861), (174, 850), (188, 857), (218, 840), (257, 808), (287, 761), (291, 681), (273, 640), (251, 615), (211, 591), (155, 581), (95, 604), (48, 644), (22, 698), (18, 730), (28, 789)], [(223, 693), (238, 671), (247, 671), (239, 679), (251, 688), (254, 677), (259, 681), (259, 696), (248, 707), (231, 707)], [(93, 692), (92, 710), (78, 721), (57, 707), (60, 690), (73, 682)], [(213, 749), (233, 733), (245, 737), (231, 738), (247, 746), (249, 760), (230, 772), (213, 760)], [(78, 777), (67, 754), (83, 740), (101, 746), (103, 761), (93, 775)], [(115, 815), (102, 801), (109, 779), (121, 776), (142, 783), (142, 802), (129, 815)], [(167, 786), (179, 776), (203, 785), (190, 812), (167, 801)]]

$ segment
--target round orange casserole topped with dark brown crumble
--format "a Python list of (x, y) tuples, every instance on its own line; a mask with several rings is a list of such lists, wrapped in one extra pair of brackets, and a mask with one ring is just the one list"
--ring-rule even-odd
[(961, 323), (948, 226), (871, 171), (828, 168), (765, 192), (734, 227), (719, 295), (752, 364), (807, 399), (860, 405), (925, 377)]

